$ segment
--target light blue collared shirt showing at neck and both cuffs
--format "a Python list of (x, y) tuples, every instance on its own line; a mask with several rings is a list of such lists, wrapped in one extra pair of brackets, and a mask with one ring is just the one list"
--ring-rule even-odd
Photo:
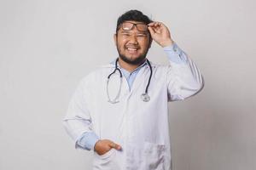
[[(171, 46), (167, 46), (163, 49), (166, 52), (167, 57), (170, 61), (177, 64), (182, 64), (187, 61), (186, 54), (183, 52), (181, 48), (177, 46), (176, 42), (174, 42)], [(114, 64), (114, 62), (115, 61), (113, 61), (112, 64)], [(122, 74), (127, 80), (130, 89), (132, 83), (135, 80), (135, 77), (137, 76), (137, 73), (140, 71), (141, 68), (143, 68), (144, 65), (147, 65), (146, 61), (142, 65), (138, 66), (137, 69), (135, 69), (132, 72), (126, 71), (125, 69), (121, 68)], [(98, 140), (99, 137), (96, 135), (96, 133), (83, 133), (83, 135), (78, 139), (77, 144), (81, 149), (92, 150), (94, 149), (94, 146)]]

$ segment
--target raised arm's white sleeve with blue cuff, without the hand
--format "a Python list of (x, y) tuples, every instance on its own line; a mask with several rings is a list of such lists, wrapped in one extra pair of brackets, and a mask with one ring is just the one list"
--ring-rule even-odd
[(187, 99), (201, 91), (204, 86), (200, 70), (192, 59), (173, 42), (164, 47), (169, 59), (167, 70), (168, 101)]

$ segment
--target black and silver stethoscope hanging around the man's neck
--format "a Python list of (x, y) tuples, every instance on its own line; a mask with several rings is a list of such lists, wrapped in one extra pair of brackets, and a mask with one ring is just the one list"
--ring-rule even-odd
[[(107, 81), (108, 102), (109, 102), (109, 103), (112, 103), (112, 104), (116, 104), (116, 103), (119, 102), (119, 96), (120, 96), (120, 93), (121, 93), (121, 88), (122, 88), (122, 83), (123, 83), (123, 81), (122, 81), (122, 80), (123, 80), (123, 74), (122, 74), (122, 72), (120, 71), (120, 69), (118, 68), (118, 60), (119, 60), (119, 58), (117, 58), (117, 59), (115, 60), (115, 69), (114, 69), (114, 71), (113, 71), (110, 75), (108, 75), (108, 81)], [(148, 86), (149, 86), (149, 84), (150, 84), (151, 77), (152, 77), (152, 66), (150, 65), (150, 62), (148, 61), (148, 59), (146, 59), (146, 62), (147, 62), (148, 65), (149, 65), (150, 76), (149, 76), (149, 78), (148, 78), (148, 84), (147, 84), (147, 87), (146, 87), (146, 89), (145, 89), (145, 93), (143, 93), (143, 94), (141, 95), (141, 99), (142, 99), (144, 102), (148, 102), (148, 101), (150, 100), (150, 97), (149, 97), (149, 95), (148, 95)], [(109, 97), (109, 93), (108, 93), (108, 82), (109, 82), (110, 77), (115, 73), (115, 71), (119, 71), (119, 77), (120, 77), (119, 91), (118, 91), (118, 94), (115, 96), (115, 98), (114, 98), (113, 100), (111, 100), (110, 97)]]

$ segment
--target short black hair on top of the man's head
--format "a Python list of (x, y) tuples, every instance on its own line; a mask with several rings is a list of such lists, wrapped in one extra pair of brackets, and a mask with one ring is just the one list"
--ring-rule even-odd
[(121, 16), (119, 16), (119, 19), (117, 20), (117, 25), (116, 25), (116, 33), (119, 31), (119, 26), (127, 20), (143, 22), (146, 25), (153, 22), (153, 20), (150, 20), (148, 16), (143, 14), (141, 11), (137, 9), (132, 9), (125, 12), (125, 14), (122, 14)]

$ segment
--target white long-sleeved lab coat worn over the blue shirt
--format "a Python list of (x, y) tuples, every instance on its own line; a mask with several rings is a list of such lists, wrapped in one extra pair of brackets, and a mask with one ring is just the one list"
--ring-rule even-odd
[[(93, 170), (172, 168), (167, 103), (198, 93), (203, 79), (191, 59), (183, 64), (170, 61), (170, 65), (151, 65), (153, 76), (148, 102), (141, 99), (150, 74), (148, 65), (138, 72), (131, 91), (123, 77), (117, 104), (108, 102), (106, 91), (114, 65), (102, 66), (79, 83), (63, 121), (67, 133), (75, 144), (82, 133), (93, 131), (100, 139), (110, 139), (122, 146), (122, 150), (112, 149), (102, 156), (94, 151)], [(109, 82), (111, 99), (119, 90), (116, 72)]]

